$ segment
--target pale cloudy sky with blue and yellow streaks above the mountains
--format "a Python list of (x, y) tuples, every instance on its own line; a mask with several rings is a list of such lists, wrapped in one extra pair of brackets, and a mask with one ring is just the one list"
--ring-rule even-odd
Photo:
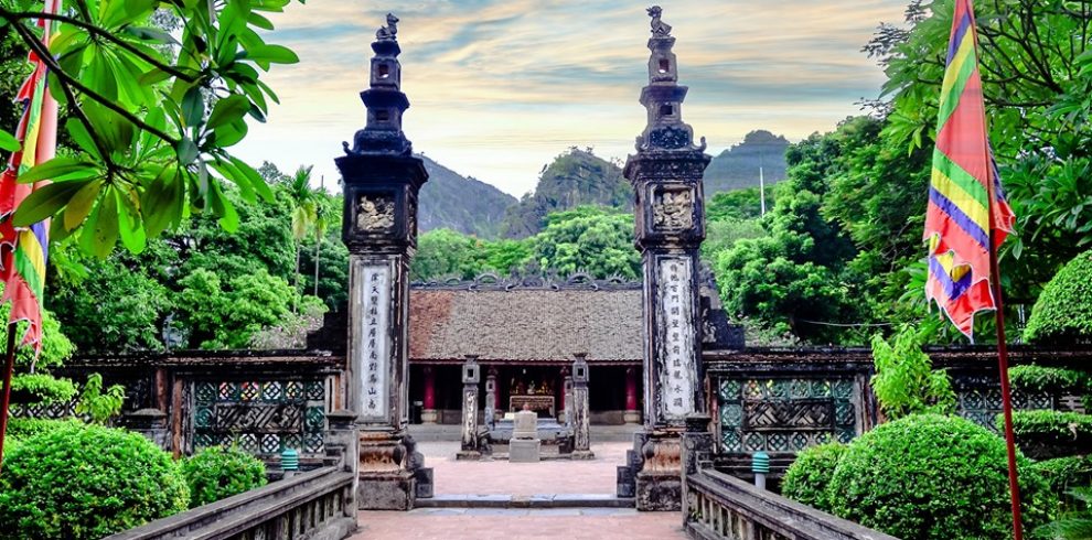
[[(860, 52), (906, 0), (663, 0), (677, 39), (683, 119), (708, 153), (767, 129), (796, 141), (832, 130), (885, 78)], [(629, 0), (308, 0), (270, 19), (269, 43), (299, 64), (264, 76), (280, 97), (237, 154), (281, 171), (314, 165), (336, 190), (333, 159), (364, 126), (370, 47), (399, 19), (405, 132), (421, 152), (520, 196), (569, 147), (625, 159), (644, 129), (647, 2)]]

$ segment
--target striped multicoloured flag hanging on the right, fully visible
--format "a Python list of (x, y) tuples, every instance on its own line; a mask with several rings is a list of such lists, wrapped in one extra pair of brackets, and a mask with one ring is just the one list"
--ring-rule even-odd
[(971, 0), (956, 0), (925, 214), (925, 298), (971, 338), (975, 313), (996, 309), (991, 258), (1015, 222), (989, 148), (977, 42)]

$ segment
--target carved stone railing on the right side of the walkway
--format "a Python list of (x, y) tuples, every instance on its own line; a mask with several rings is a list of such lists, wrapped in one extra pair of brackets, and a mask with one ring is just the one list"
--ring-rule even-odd
[(725, 540), (898, 540), (789, 500), (711, 468), (686, 476), (683, 527)]

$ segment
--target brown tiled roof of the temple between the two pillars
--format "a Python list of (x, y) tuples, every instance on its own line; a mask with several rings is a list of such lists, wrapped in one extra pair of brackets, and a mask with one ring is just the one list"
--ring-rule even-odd
[(640, 363), (641, 283), (479, 279), (410, 290), (409, 358), (415, 363)]

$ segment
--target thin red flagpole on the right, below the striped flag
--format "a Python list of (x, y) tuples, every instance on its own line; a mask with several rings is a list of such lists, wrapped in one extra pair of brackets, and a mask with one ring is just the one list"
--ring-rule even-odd
[(997, 309), (994, 315), (997, 321), (997, 367), (1002, 379), (1002, 410), (1005, 415), (1005, 449), (1008, 452), (1008, 490), (1013, 501), (1013, 538), (1024, 539), (1024, 525), (1020, 520), (1020, 484), (1017, 480), (1016, 472), (1016, 438), (1013, 435), (1013, 392), (1008, 385), (1008, 345), (1005, 342), (1005, 304), (1002, 301), (1000, 271), (997, 264), (997, 246), (994, 245), (994, 230), (996, 223), (994, 219), (994, 202), (996, 201), (996, 190), (994, 190), (994, 171), (991, 171), (991, 179), (987, 186), (989, 196), (989, 273), (991, 285), (994, 292), (994, 302)]

